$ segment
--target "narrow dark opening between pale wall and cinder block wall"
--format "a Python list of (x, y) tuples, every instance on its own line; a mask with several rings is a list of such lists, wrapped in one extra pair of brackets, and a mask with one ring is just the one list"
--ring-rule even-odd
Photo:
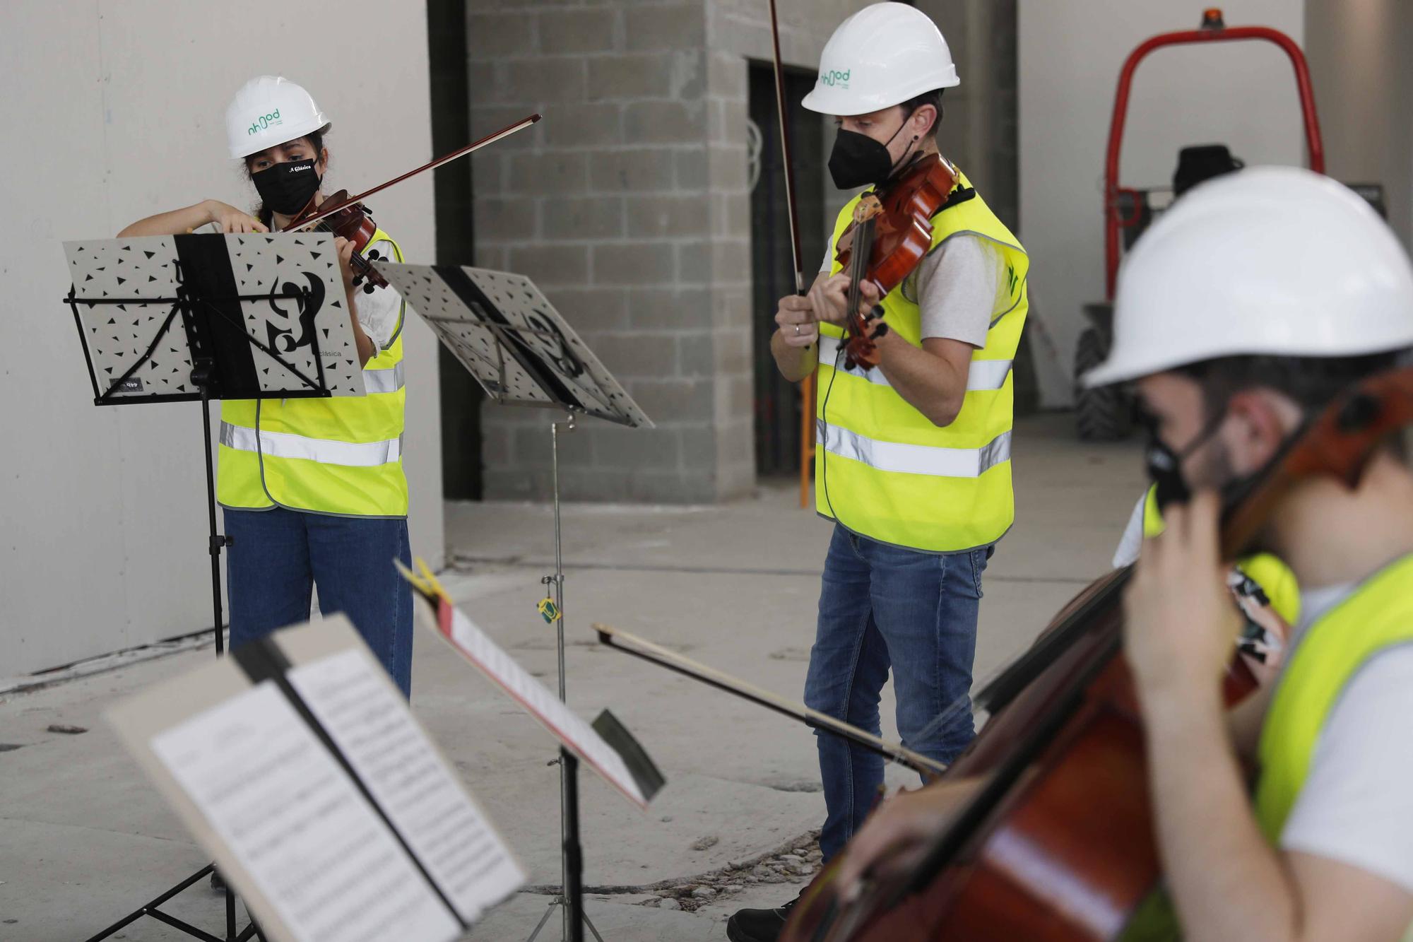
[[(471, 89), (466, 68), (465, 0), (427, 0), (427, 51), (431, 59), (432, 153), (471, 141)], [(437, 205), (437, 263), (473, 264), (471, 161), (432, 171)], [(479, 501), (480, 386), (438, 344), (441, 371), (442, 496)]]

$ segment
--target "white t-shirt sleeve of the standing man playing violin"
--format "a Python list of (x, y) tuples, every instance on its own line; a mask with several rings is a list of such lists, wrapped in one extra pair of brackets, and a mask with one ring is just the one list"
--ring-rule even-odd
[[(834, 249), (824, 255), (828, 273)], [(903, 297), (921, 313), (923, 338), (986, 345), (991, 315), (1003, 290), (1000, 252), (985, 238), (955, 235), (933, 249), (903, 281)]]

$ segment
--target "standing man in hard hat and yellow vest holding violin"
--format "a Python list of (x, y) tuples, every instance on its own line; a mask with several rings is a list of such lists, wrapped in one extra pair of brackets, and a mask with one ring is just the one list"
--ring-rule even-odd
[[(804, 99), (838, 124), (835, 185), (882, 192), (917, 161), (935, 161), (942, 89), (955, 85), (947, 42), (924, 13), (877, 3), (845, 20)], [(839, 212), (808, 296), (781, 298), (770, 342), (787, 379), (817, 375), (817, 508), (835, 522), (805, 703), (876, 733), (892, 666), (903, 743), (950, 762), (974, 734), (982, 571), (1015, 515), (1010, 365), (1029, 264), (959, 175), (913, 273), (882, 298), (876, 286), (859, 287), (862, 310), (879, 306), (886, 330), (876, 335), (877, 366), (846, 366), (849, 276), (835, 246), (858, 202)], [(818, 750), (828, 860), (873, 808), (883, 764), (828, 734)], [(729, 938), (774, 939), (790, 905), (736, 912)]]

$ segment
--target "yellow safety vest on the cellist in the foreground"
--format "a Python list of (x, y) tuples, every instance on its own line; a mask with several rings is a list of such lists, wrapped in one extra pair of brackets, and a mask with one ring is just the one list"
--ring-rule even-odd
[(1313, 624), (1280, 676), (1260, 730), (1256, 820), (1280, 839), (1310, 774), (1320, 730), (1371, 658), (1413, 644), (1413, 556), (1386, 566)]

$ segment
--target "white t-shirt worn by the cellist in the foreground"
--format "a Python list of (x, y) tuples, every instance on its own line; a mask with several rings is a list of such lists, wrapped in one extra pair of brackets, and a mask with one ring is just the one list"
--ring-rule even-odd
[[(1296, 649), (1310, 625), (1355, 588), (1301, 593)], [(1340, 694), (1280, 846), (1359, 867), (1413, 892), (1413, 645), (1371, 658)]]

